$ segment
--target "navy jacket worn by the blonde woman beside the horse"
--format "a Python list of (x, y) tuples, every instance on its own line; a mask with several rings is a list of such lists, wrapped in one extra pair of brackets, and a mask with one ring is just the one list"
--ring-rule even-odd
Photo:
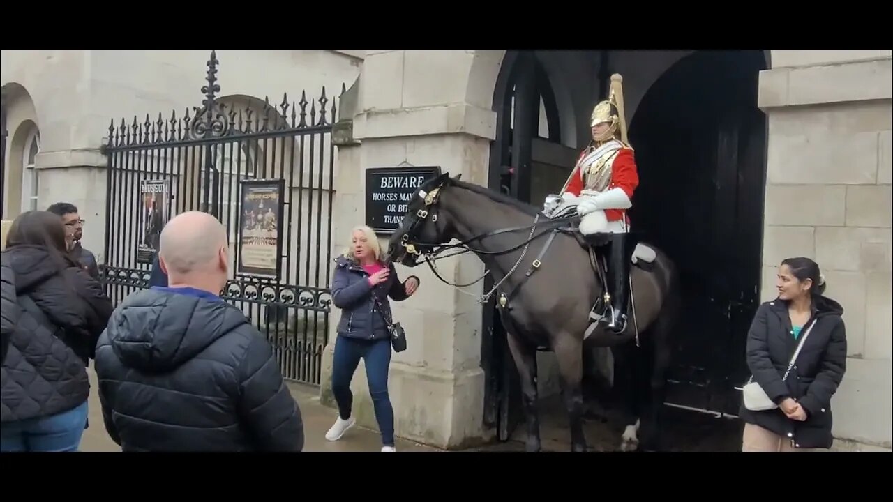
[[(352, 339), (389, 339), (388, 327), (372, 295), (379, 298), (379, 303), (384, 307), (388, 319), (398, 322), (391, 314), (388, 297), (399, 302), (408, 296), (406, 283), (400, 282), (394, 264), (388, 265), (390, 269), (388, 280), (372, 287), (369, 283), (369, 273), (364, 271), (360, 264), (343, 255), (338, 256), (335, 262), (337, 265), (331, 291), (332, 302), (341, 309), (338, 334)], [(406, 280), (413, 277), (419, 280), (414, 275)]]

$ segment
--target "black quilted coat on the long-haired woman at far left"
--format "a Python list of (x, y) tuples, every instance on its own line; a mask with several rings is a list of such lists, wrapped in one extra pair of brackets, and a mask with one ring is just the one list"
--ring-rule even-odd
[[(3, 254), (16, 295), (11, 298), (10, 289), (4, 289), (4, 317), (11, 308), (18, 319), (0, 367), (2, 421), (58, 414), (81, 405), (90, 391), (88, 357), (112, 314), (112, 302), (87, 272), (58, 262), (46, 247), (16, 246)], [(22, 308), (25, 296), (56, 330)]]

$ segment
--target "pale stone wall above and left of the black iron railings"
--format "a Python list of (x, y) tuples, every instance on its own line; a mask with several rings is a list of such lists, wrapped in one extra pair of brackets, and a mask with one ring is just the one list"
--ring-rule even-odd
[[(292, 103), (319, 98), (326, 87), (331, 99), (360, 73), (357, 51), (218, 51), (218, 96), (238, 96), (279, 104), (283, 93)], [(9, 138), (20, 127), (36, 124), (41, 152), (36, 165), (38, 208), (58, 201), (77, 205), (88, 220), (84, 246), (104, 262), (105, 165), (99, 153), (109, 122), (152, 121), (171, 111), (181, 117), (201, 106), (206, 63), (211, 50), (162, 51), (3, 51), (0, 74)], [(316, 104), (317, 106), (319, 103)], [(4, 197), (5, 217), (21, 211), (21, 145), (8, 141)], [(315, 181), (314, 181), (315, 184)], [(315, 211), (315, 208), (314, 208)]]

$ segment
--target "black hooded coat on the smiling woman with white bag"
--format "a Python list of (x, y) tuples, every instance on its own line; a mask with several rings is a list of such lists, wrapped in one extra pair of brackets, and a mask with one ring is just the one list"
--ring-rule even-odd
[(797, 339), (788, 314), (788, 302), (776, 299), (760, 305), (747, 335), (747, 366), (775, 403), (793, 397), (806, 411), (805, 422), (790, 420), (780, 409), (754, 412), (742, 404), (739, 416), (780, 436), (790, 438), (796, 448), (830, 448), (831, 397), (847, 370), (847, 330), (836, 301), (820, 297), (813, 302), (813, 315), (801, 331), (815, 322), (788, 380), (782, 381)]

